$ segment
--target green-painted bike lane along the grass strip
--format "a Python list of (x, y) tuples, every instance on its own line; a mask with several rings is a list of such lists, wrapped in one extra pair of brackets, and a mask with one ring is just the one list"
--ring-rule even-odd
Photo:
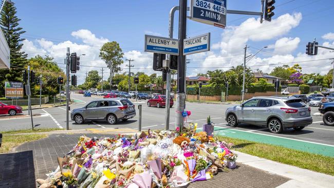
[[(202, 129), (202, 127), (197, 128)], [(320, 154), (323, 156), (334, 157), (334, 145), (322, 144), (280, 136), (266, 135), (261, 133), (254, 133), (253, 131), (238, 130), (234, 127), (215, 126), (215, 136), (225, 136), (236, 139), (249, 140), (254, 142), (279, 145), (291, 149), (296, 149), (302, 152), (313, 154)]]

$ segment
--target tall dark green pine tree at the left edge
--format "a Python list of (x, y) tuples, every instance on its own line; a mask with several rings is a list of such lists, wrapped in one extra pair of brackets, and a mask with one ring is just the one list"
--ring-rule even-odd
[(15, 14), (15, 4), (6, 1), (1, 12), (0, 27), (5, 35), (10, 49), (11, 68), (10, 70), (0, 69), (0, 96), (4, 96), (5, 94), (5, 81), (22, 82), (22, 70), (27, 64), (27, 54), (21, 51), (23, 46), (21, 42), (25, 39), (20, 37), (22, 33), (25, 33), (25, 31), (22, 30), (23, 28), (18, 27), (18, 22), (20, 22), (21, 19), (17, 18)]

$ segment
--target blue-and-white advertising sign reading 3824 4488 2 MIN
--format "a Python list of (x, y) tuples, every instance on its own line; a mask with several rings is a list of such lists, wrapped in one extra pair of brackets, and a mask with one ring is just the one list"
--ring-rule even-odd
[(227, 0), (191, 0), (191, 20), (220, 28), (226, 26)]

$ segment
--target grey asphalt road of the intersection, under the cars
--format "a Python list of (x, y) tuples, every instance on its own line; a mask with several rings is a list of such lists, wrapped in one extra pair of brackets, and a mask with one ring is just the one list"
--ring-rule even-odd
[[(70, 105), (71, 109), (82, 107), (87, 102), (100, 99), (99, 97), (83, 97), (79, 94), (72, 94), (73, 99), (76, 99), (77, 103)], [(126, 122), (120, 121), (117, 125), (109, 125), (104, 121), (85, 122), (78, 125), (70, 120), (70, 129), (85, 129), (85, 128), (138, 128), (138, 105), (142, 105), (142, 128), (143, 129), (163, 129), (165, 119), (165, 108), (147, 107), (145, 100), (138, 102), (134, 101), (136, 105), (137, 116)], [(191, 111), (191, 116), (187, 119), (187, 122), (196, 122), (200, 128), (202, 124), (206, 123), (206, 119), (211, 115), (211, 120), (216, 124), (216, 128), (220, 128), (220, 135), (233, 136), (233, 133), (240, 133), (235, 135), (265, 135), (274, 138), (288, 138), (290, 140), (306, 141), (307, 143), (320, 143), (322, 145), (334, 146), (334, 127), (326, 126), (322, 122), (322, 117), (312, 116), (313, 123), (305, 127), (301, 131), (294, 131), (293, 129), (287, 129), (281, 134), (272, 134), (267, 128), (260, 126), (239, 124), (237, 127), (229, 127), (225, 121), (225, 111), (232, 104), (206, 104), (206, 103), (186, 103), (186, 109)], [(52, 107), (45, 109), (33, 110), (33, 122), (36, 127), (40, 128), (66, 128), (66, 113), (65, 107)], [(318, 112), (317, 107), (311, 107), (311, 114)], [(171, 108), (170, 128), (175, 128), (175, 108)], [(10, 119), (12, 118), (12, 119)], [(187, 123), (186, 123), (187, 124)], [(27, 116), (27, 111), (24, 111), (23, 115), (9, 117), (0, 117), (0, 131), (13, 130), (13, 129), (28, 129), (31, 128), (31, 121)], [(243, 134), (241, 134), (243, 133)], [(244, 138), (242, 137), (242, 138)], [(266, 137), (269, 138), (269, 137)], [(248, 139), (248, 138), (247, 138)], [(253, 138), (259, 139), (259, 138)], [(251, 140), (251, 139), (250, 139)], [(274, 142), (274, 141), (272, 141)], [(273, 143), (274, 144), (274, 143)]]

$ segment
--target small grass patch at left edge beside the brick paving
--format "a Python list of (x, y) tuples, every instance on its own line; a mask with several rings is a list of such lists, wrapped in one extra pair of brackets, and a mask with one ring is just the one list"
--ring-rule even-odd
[(41, 134), (31, 134), (31, 135), (3, 135), (2, 145), (0, 147), (0, 153), (7, 153), (11, 151), (12, 148), (21, 145), (26, 142), (31, 142), (34, 140), (39, 140), (42, 138), (46, 138), (47, 135)]

